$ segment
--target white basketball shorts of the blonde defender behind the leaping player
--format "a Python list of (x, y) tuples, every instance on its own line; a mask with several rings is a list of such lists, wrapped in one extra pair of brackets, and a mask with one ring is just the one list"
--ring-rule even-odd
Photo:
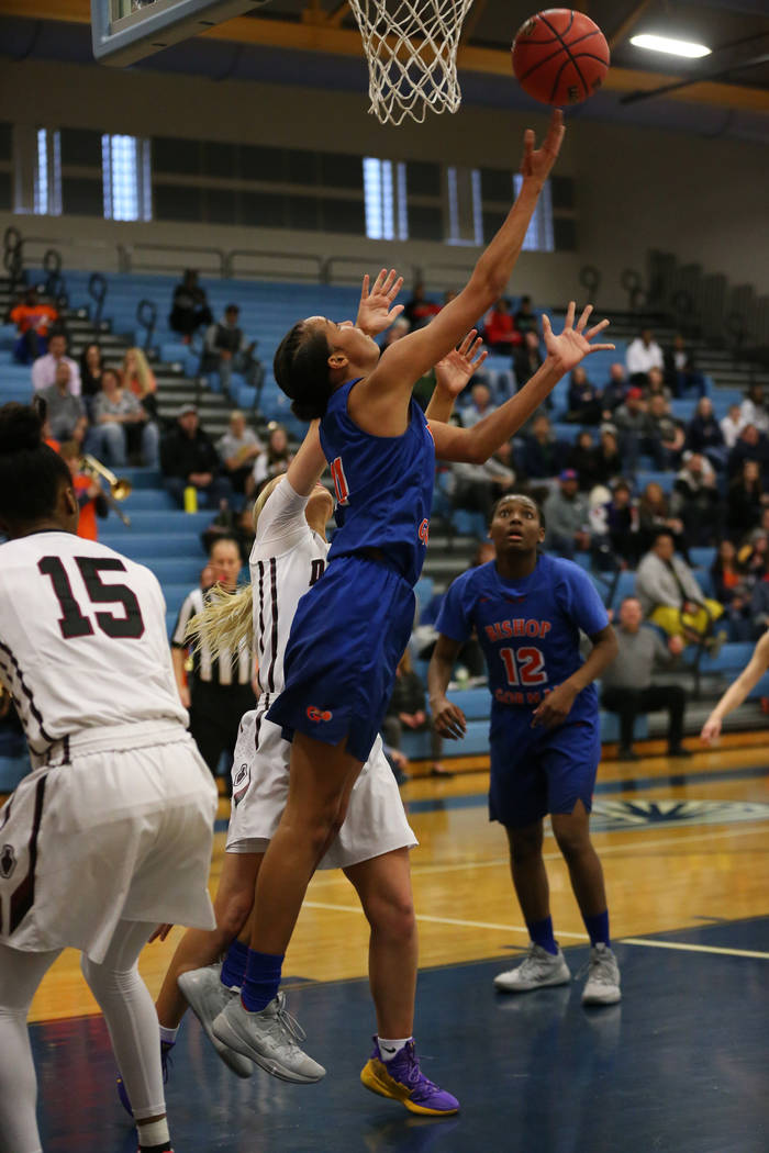
[[(263, 853), (278, 828), (288, 797), (291, 744), (281, 730), (254, 709), (241, 721), (233, 760), (228, 853)], [(417, 839), (377, 737), (353, 786), (347, 816), (318, 868), (347, 868)]]

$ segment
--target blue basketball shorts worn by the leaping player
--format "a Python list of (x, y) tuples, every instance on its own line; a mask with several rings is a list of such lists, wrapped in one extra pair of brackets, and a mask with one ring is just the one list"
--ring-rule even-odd
[(285, 688), (267, 718), (326, 745), (347, 738), (367, 761), (414, 626), (414, 590), (394, 568), (338, 557), (300, 600), (284, 658)]

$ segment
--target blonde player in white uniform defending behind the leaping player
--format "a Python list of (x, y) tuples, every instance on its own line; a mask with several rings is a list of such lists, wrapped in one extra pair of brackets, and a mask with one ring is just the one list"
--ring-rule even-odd
[[(443, 366), (444, 395), (438, 402), (445, 408), (439, 414), (436, 410), (436, 415), (448, 415), (452, 395), (482, 363), (483, 356), (474, 359), (480, 345), (480, 341), (474, 342), (474, 336), (472, 333), (461, 351)], [(254, 902), (263, 854), (288, 798), (291, 745), (282, 739), (280, 729), (266, 721), (265, 713), (282, 687), (282, 653), (296, 604), (325, 566), (329, 545), (324, 528), (332, 502), (327, 491), (317, 484), (324, 467), (314, 430), (289, 466), (287, 476), (273, 483), (274, 491), (261, 510), (257, 503), (256, 540), (250, 558), (251, 588), (240, 594), (240, 611), (233, 608), (232, 601), (225, 601), (219, 610), (209, 610), (203, 616), (201, 626), (211, 647), (232, 647), (249, 631), (252, 621), (263, 695), (257, 709), (243, 717), (235, 749), (227, 852), (214, 904), (218, 928), (210, 934), (190, 930), (184, 935), (166, 974), (157, 1008), (161, 1034), (169, 1041), (184, 1012), (186, 997), (219, 1055), (240, 1076), (250, 1075), (251, 1063), (217, 1038), (212, 1024), (231, 1000), (232, 987), (240, 985), (249, 940), (248, 927), (241, 930)], [(266, 495), (265, 491), (263, 497)], [(206, 618), (212, 619), (206, 624)], [(408, 849), (414, 844), (416, 839), (377, 738), (353, 787), (345, 821), (326, 847), (319, 867), (345, 869), (371, 926), (369, 977), (378, 1034), (377, 1056), (365, 1065), (363, 1084), (383, 1095), (402, 1100), (414, 1113), (447, 1115), (458, 1109), (455, 1098), (428, 1082), (419, 1072), (415, 1057), (414, 1080), (408, 1086), (392, 1083), (378, 1062), (378, 1055), (397, 1053), (407, 1045), (410, 1045), (409, 1053), (413, 1052), (417, 936)], [(198, 967), (214, 962), (239, 933), (241, 940), (232, 944), (221, 973), (218, 965)], [(281, 995), (274, 1007), (276, 1048), (264, 1068), (289, 1080), (317, 1080), (325, 1070), (301, 1054), (291, 1040), (291, 1031), (281, 1027), (284, 1005)], [(286, 1054), (281, 1049), (286, 1045), (292, 1049), (292, 1064), (302, 1062), (302, 1076), (295, 1076), (282, 1062)]]

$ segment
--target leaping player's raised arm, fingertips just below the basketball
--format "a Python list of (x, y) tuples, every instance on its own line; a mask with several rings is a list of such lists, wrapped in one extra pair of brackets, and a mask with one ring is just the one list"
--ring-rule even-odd
[(364, 382), (367, 394), (382, 398), (386, 392), (410, 392), (416, 380), (446, 356), (503, 295), (563, 138), (564, 118), (557, 108), (540, 149), (534, 148), (535, 135), (527, 129), (521, 160), (523, 181), (507, 219), (478, 259), (462, 291), (440, 309), (427, 327), (409, 332), (385, 349)]

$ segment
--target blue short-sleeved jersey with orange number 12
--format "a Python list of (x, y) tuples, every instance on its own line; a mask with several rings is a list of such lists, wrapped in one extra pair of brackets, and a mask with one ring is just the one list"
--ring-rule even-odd
[[(589, 576), (571, 560), (541, 555), (529, 576), (505, 581), (493, 560), (462, 573), (443, 602), (436, 628), (455, 641), (473, 630), (489, 668), (493, 708), (525, 715), (585, 663), (580, 630), (594, 636), (609, 624)], [(570, 721), (595, 714), (595, 685), (578, 694)]]

